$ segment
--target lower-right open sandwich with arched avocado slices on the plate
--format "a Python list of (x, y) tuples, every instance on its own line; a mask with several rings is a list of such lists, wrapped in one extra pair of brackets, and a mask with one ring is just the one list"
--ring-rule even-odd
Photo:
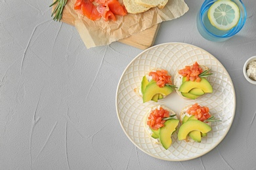
[(189, 105), (181, 110), (181, 127), (179, 128), (178, 139), (186, 142), (201, 142), (211, 131), (211, 122), (221, 122), (209, 113), (209, 108), (200, 106), (198, 103)]

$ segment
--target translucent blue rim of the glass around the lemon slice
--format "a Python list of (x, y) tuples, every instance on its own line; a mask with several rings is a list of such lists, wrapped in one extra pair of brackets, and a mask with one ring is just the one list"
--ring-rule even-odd
[(210, 3), (209, 3), (209, 1), (204, 1), (202, 7), (200, 8), (199, 16), (200, 16), (201, 25), (203, 25), (203, 28), (205, 29), (205, 31), (207, 31), (207, 33), (209, 33), (210, 35), (212, 35), (214, 37), (219, 37), (219, 38), (232, 37), (233, 35), (238, 33), (242, 29), (242, 27), (244, 27), (244, 24), (245, 24), (245, 21), (246, 21), (246, 18), (247, 18), (247, 12), (246, 12), (246, 9), (245, 9), (245, 5), (241, 0), (239, 0), (239, 1), (241, 3), (242, 7), (244, 8), (244, 18), (242, 18), (242, 12), (240, 12), (240, 19), (239, 19), (238, 24), (237, 24), (237, 25), (241, 25), (241, 26), (237, 27), (237, 25), (236, 25), (235, 27), (230, 29), (230, 31), (228, 31), (228, 33), (226, 33), (224, 35), (221, 35), (221, 36), (220, 35), (215, 35), (215, 34), (209, 32), (208, 29), (205, 27), (205, 25), (202, 22), (202, 15), (205, 13), (205, 10), (209, 9), (207, 7), (212, 5), (212, 1)]

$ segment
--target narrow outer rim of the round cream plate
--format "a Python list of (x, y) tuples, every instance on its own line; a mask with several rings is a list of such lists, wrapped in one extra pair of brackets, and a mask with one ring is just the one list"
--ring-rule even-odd
[(166, 43), (163, 43), (163, 44), (158, 44), (156, 46), (152, 46), (142, 52), (140, 52), (140, 54), (138, 54), (128, 65), (127, 67), (125, 68), (125, 70), (123, 71), (120, 79), (119, 79), (119, 82), (117, 84), (117, 90), (116, 90), (116, 112), (117, 112), (117, 118), (119, 120), (119, 124), (121, 125), (121, 128), (123, 129), (123, 132), (125, 133), (125, 135), (128, 137), (128, 139), (133, 143), (135, 144), (135, 146), (137, 146), (137, 148), (139, 148), (142, 152), (154, 157), (154, 158), (158, 158), (160, 160), (166, 160), (166, 161), (186, 161), (186, 160), (192, 160), (192, 159), (195, 159), (195, 158), (199, 158), (200, 156), (203, 156), (205, 154), (207, 154), (208, 152), (210, 152), (211, 150), (213, 150), (213, 148), (215, 148), (219, 143), (221, 143), (221, 141), (223, 141), (224, 137), (226, 137), (228, 131), (230, 130), (230, 127), (232, 126), (232, 123), (233, 123), (233, 120), (234, 120), (234, 116), (235, 116), (235, 111), (236, 111), (236, 93), (235, 93), (235, 90), (234, 90), (234, 84), (232, 82), (232, 79), (230, 78), (230, 75), (228, 74), (228, 71), (226, 71), (226, 76), (228, 76), (228, 80), (230, 81), (230, 84), (232, 85), (232, 92), (234, 93), (234, 109), (233, 109), (233, 113), (232, 113), (232, 118), (230, 119), (230, 124), (229, 126), (226, 128), (226, 131), (225, 133), (223, 134), (223, 137), (221, 137), (221, 139), (219, 139), (219, 141), (217, 143), (215, 143), (215, 145), (211, 146), (211, 148), (209, 148), (209, 150), (207, 150), (206, 152), (203, 152), (202, 154), (199, 154), (198, 156), (194, 156), (192, 158), (186, 158), (186, 159), (180, 159), (180, 160), (172, 160), (172, 159), (165, 159), (165, 158), (161, 158), (161, 157), (158, 157), (158, 156), (155, 156), (154, 154), (151, 154), (149, 152), (146, 152), (146, 150), (144, 150), (143, 148), (141, 148), (137, 143), (135, 143), (135, 141), (133, 141), (133, 139), (131, 139), (131, 137), (129, 136), (129, 134), (127, 134), (127, 132), (125, 131), (125, 128), (123, 127), (123, 124), (121, 123), (121, 119), (119, 117), (119, 112), (118, 112), (118, 107), (117, 107), (117, 95), (118, 95), (118, 91), (119, 91), (119, 85), (120, 85), (120, 82), (123, 78), (123, 75), (125, 74), (125, 72), (127, 71), (127, 69), (129, 69), (129, 67), (131, 66), (131, 64), (137, 59), (139, 58), (142, 54), (148, 52), (149, 50), (154, 50), (154, 48), (158, 48), (160, 46), (165, 46), (165, 45), (175, 45), (175, 44), (181, 44), (181, 45), (186, 45), (186, 46), (192, 46), (194, 48), (198, 48), (198, 50), (201, 50), (202, 52), (205, 52), (206, 54), (208, 54), (209, 56), (211, 56), (211, 58), (215, 59), (217, 61), (217, 63), (219, 63), (219, 65), (221, 65), (224, 69), (224, 71), (226, 71), (226, 68), (223, 66), (223, 64), (217, 59), (215, 58), (212, 54), (210, 54), (209, 52), (207, 52), (206, 50), (203, 50), (202, 48), (198, 47), (198, 46), (194, 46), (192, 44), (186, 44), (186, 43), (183, 43), (183, 42), (166, 42)]

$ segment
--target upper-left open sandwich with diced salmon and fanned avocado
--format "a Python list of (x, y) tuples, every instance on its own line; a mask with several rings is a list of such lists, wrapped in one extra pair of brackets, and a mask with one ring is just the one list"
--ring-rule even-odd
[(174, 87), (171, 75), (165, 69), (154, 69), (143, 76), (139, 88), (134, 91), (142, 97), (143, 103), (158, 102), (173, 92)]

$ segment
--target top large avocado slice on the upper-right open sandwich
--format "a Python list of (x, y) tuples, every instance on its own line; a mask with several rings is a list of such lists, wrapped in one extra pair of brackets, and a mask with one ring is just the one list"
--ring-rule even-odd
[[(183, 77), (183, 78), (186, 78), (186, 77)], [(200, 82), (196, 82), (196, 81), (194, 81), (194, 82), (193, 81), (182, 82), (182, 84), (179, 88), (179, 92), (188, 93), (193, 88), (200, 88), (200, 89), (203, 90), (204, 93), (212, 93), (213, 92), (213, 87), (203, 77), (201, 78)]]

